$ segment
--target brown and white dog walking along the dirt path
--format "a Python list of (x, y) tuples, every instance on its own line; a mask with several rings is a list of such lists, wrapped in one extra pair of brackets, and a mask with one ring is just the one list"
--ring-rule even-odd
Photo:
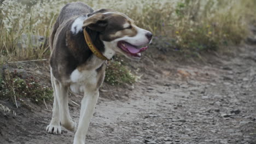
[[(152, 33), (137, 27), (133, 20), (117, 11), (94, 11), (80, 2), (68, 3), (61, 9), (50, 35), (54, 104), (53, 117), (46, 131), (61, 134), (61, 127), (75, 131), (75, 144), (85, 143), (106, 68), (105, 61), (94, 55), (86, 44), (84, 29), (108, 59), (115, 53), (139, 59), (152, 40)], [(78, 127), (69, 115), (68, 88), (84, 96)]]

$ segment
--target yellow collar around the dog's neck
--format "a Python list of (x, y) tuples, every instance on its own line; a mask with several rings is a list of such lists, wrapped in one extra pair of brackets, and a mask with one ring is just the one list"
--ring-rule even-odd
[(86, 32), (85, 28), (84, 28), (84, 39), (89, 49), (91, 50), (92, 53), (94, 53), (94, 55), (96, 55), (100, 59), (109, 60), (107, 57), (103, 56), (102, 53), (95, 47), (94, 43), (92, 43), (91, 41), (90, 35)]

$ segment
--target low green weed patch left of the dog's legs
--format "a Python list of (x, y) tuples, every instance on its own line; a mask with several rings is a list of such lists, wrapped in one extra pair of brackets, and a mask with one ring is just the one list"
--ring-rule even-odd
[(0, 95), (3, 98), (11, 98), (13, 102), (15, 100), (24, 102), (28, 99), (37, 104), (42, 103), (43, 100), (50, 101), (53, 99), (53, 91), (49, 87), (40, 85), (32, 76), (21, 79), (21, 75), (16, 71), (5, 73), (0, 85)]

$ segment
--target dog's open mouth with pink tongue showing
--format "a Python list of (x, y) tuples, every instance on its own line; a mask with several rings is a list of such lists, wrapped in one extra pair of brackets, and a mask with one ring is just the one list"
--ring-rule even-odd
[(126, 41), (119, 41), (118, 47), (126, 53), (129, 53), (129, 55), (137, 58), (141, 57), (141, 52), (146, 51), (148, 49), (148, 45), (137, 47), (127, 43)]

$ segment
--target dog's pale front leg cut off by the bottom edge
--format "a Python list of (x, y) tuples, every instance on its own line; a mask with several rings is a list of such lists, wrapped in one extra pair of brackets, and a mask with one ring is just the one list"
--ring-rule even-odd
[(80, 118), (77, 131), (74, 136), (74, 144), (84, 144), (85, 136), (94, 113), (98, 99), (98, 89), (96, 91), (85, 91), (80, 110)]

